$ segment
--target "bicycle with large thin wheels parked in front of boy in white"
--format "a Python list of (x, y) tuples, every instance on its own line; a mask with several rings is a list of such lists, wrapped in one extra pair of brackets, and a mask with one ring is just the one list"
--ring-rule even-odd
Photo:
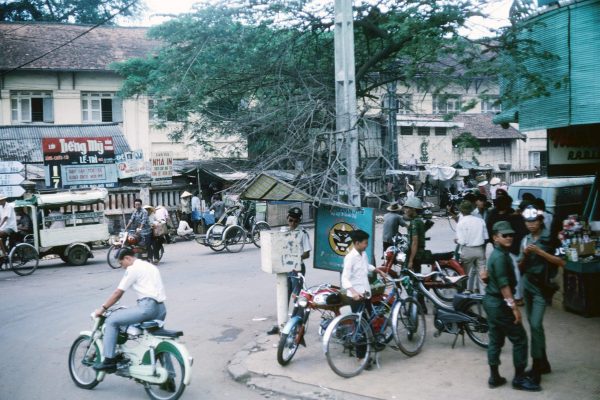
[[(387, 294), (375, 294), (359, 305), (358, 311), (336, 317), (325, 331), (323, 351), (329, 367), (339, 376), (360, 374), (392, 339), (394, 350), (409, 357), (417, 355), (425, 343), (425, 315), (413, 297), (402, 298), (408, 279), (386, 278)], [(360, 358), (358, 356), (361, 356)], [(375, 363), (379, 365), (378, 354)]]

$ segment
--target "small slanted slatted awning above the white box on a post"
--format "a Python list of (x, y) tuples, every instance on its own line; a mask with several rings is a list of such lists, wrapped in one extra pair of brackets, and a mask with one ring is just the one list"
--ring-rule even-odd
[(243, 200), (314, 201), (314, 198), (308, 193), (264, 173), (244, 189), (240, 198)]

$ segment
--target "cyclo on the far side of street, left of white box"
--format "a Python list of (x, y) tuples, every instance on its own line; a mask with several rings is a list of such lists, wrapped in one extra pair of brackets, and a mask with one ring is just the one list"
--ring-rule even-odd
[(265, 221), (256, 222), (250, 207), (236, 203), (227, 208), (221, 218), (208, 228), (206, 235), (198, 235), (196, 241), (214, 251), (230, 253), (242, 251), (247, 243), (260, 247), (260, 232), (271, 230)]

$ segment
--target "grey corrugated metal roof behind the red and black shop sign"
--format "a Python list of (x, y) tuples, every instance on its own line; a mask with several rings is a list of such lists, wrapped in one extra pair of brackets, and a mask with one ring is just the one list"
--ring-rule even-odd
[(119, 124), (3, 125), (0, 126), (0, 160), (43, 163), (43, 138), (112, 137), (115, 154), (131, 151)]

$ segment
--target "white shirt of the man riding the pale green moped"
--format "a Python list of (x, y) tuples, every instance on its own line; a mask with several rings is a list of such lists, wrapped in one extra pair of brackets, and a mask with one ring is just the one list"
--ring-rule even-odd
[(167, 299), (158, 268), (142, 260), (135, 260), (127, 267), (118, 288), (122, 291), (131, 288), (138, 299), (150, 297), (159, 303)]

